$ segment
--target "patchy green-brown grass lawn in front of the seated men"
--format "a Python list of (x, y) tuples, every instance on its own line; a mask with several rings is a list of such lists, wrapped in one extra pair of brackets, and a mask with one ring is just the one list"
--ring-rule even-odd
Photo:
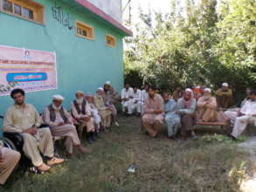
[[(140, 134), (140, 119), (120, 118), (93, 145), (93, 154), (73, 160), (44, 175), (17, 171), (2, 191), (120, 191), (196, 192), (239, 191), (248, 154), (236, 143), (168, 141), (166, 131), (156, 139)], [(135, 174), (127, 172), (135, 164)]]

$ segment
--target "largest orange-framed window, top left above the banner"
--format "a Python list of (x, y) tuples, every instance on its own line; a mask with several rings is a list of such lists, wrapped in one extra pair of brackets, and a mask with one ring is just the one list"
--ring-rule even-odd
[(0, 10), (13, 16), (44, 24), (44, 6), (27, 0), (0, 0)]

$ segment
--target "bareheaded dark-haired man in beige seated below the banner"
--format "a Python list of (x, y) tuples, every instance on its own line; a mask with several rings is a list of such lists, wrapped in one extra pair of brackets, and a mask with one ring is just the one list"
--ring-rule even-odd
[[(20, 133), (24, 138), (24, 154), (31, 159), (32, 164), (39, 171), (48, 171), (55, 164), (64, 159), (53, 156), (54, 148), (52, 134), (49, 128), (38, 128), (41, 125), (41, 118), (34, 106), (24, 102), (24, 91), (14, 89), (10, 93), (15, 104), (10, 106), (3, 119), (3, 132)], [(48, 159), (44, 163), (41, 154)]]

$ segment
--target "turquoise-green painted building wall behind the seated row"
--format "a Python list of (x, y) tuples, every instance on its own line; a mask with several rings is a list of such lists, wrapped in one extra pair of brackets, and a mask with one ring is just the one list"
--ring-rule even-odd
[[(26, 101), (35, 105), (40, 113), (51, 102), (52, 94), (55, 93), (66, 98), (64, 105), (69, 108), (76, 91), (94, 93), (106, 80), (111, 80), (113, 86), (120, 91), (123, 85), (121, 33), (110, 24), (100, 22), (86, 11), (82, 11), (85, 9), (76, 9), (75, 6), (58, 0), (57, 5), (71, 15), (71, 24), (74, 27), (73, 30), (68, 30), (66, 26), (52, 18), (54, 1), (37, 2), (45, 6), (45, 25), (0, 12), (0, 45), (55, 51), (57, 55), (59, 90), (27, 93)], [(94, 27), (94, 40), (76, 36), (76, 20)], [(112, 48), (105, 44), (106, 34), (116, 38), (116, 47)], [(9, 96), (0, 97), (0, 115), (12, 103)]]

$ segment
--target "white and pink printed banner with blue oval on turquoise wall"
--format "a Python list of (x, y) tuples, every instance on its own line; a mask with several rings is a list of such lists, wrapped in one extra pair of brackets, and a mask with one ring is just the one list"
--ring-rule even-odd
[[(57, 89), (56, 54), (0, 45), (0, 86), (37, 92)], [(1, 90), (0, 90), (1, 91)], [(0, 96), (10, 91), (0, 92)]]

